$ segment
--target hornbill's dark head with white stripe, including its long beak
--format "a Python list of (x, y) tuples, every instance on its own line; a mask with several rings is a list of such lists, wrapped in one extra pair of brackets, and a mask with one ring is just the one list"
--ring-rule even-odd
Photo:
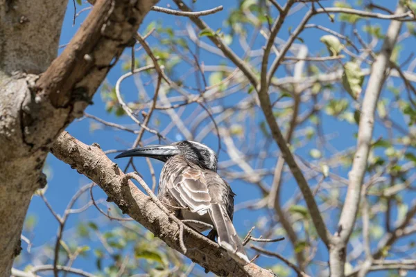
[(178, 141), (171, 145), (148, 145), (125, 151), (117, 155), (115, 159), (123, 157), (149, 157), (166, 162), (176, 155), (183, 155), (185, 159), (198, 164), (202, 168), (217, 170), (218, 160), (214, 150), (196, 141)]

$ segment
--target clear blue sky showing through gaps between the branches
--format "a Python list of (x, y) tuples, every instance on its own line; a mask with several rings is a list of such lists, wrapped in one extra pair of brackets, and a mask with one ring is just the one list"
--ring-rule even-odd
[[(230, 8), (236, 5), (238, 1), (203, 1), (199, 0), (196, 3), (196, 10), (204, 10), (208, 8), (213, 8), (216, 6), (223, 5), (224, 10), (223, 12), (219, 12), (215, 15), (209, 15), (207, 17), (204, 17), (203, 19), (209, 26), (211, 26), (212, 29), (216, 30), (218, 28), (224, 28), (223, 26), (223, 20), (226, 18), (227, 12), (229, 12)], [(283, 1), (279, 1), (283, 2)], [(380, 5), (388, 6), (391, 9), (394, 9), (395, 2), (396, 1), (378, 1)], [(158, 6), (166, 7), (167, 3), (171, 3), (171, 1), (160, 1)], [(171, 3), (171, 6), (175, 8), (174, 3)], [(80, 7), (78, 7), (78, 11), (80, 10)], [(301, 12), (302, 14), (302, 12)], [(71, 37), (73, 37), (73, 34), (76, 33), (76, 30), (79, 28), (82, 21), (85, 19), (85, 15), (87, 13), (85, 12), (83, 15), (78, 17), (76, 19), (75, 26), (72, 26), (72, 17), (73, 17), (73, 3), (69, 1), (67, 14), (64, 19), (64, 26), (62, 30), (62, 35), (60, 39), (60, 44), (67, 44)], [(146, 29), (146, 26), (150, 21), (154, 21), (157, 19), (162, 19), (163, 26), (174, 26), (175, 21), (180, 20), (183, 22), (189, 21), (187, 18), (176, 18), (173, 15), (164, 15), (157, 12), (150, 12), (150, 14), (146, 17), (144, 24), (142, 24), (140, 30), (141, 33), (144, 32)], [(289, 26), (297, 26), (297, 24), (300, 21), (300, 16), (296, 14), (295, 16), (289, 17), (288, 20), (285, 22), (284, 28), (282, 30), (288, 30)], [(324, 26), (328, 26), (329, 28), (333, 28), (334, 30), (338, 29), (339, 24), (334, 23), (330, 24), (329, 19), (327, 15), (320, 15), (318, 17), (315, 17), (311, 23), (316, 24), (322, 24)], [(377, 21), (378, 24), (380, 24), (381, 28), (385, 30), (388, 22), (387, 21)], [(226, 28), (225, 28), (226, 30)], [(289, 32), (281, 31), (281, 34), (279, 34), (279, 37), (282, 39), (287, 38), (289, 35)], [(311, 53), (319, 53), (319, 51), (322, 50), (322, 44), (319, 42), (320, 37), (324, 35), (324, 33), (315, 30), (315, 29), (309, 29), (306, 30), (300, 37), (308, 42), (309, 50)], [(151, 42), (151, 41), (150, 41)], [(415, 40), (411, 40), (411, 44), (413, 46), (415, 45)], [(412, 45), (409, 42), (407, 44), (404, 44), (404, 48), (401, 53), (401, 59), (404, 59), (404, 57), (407, 57), (407, 55), (410, 53), (412, 49)], [(255, 44), (254, 48), (261, 47), (260, 43)], [(237, 43), (232, 44), (233, 50), (237, 53), (237, 55), (243, 55), (243, 49), (239, 48), (237, 46)], [(127, 55), (130, 52), (130, 49), (127, 50)], [(216, 64), (215, 62), (218, 62), (218, 60), (221, 60), (218, 58), (218, 56), (215, 55), (203, 55), (202, 56), (203, 61), (206, 64)], [(181, 68), (177, 69), (178, 74), (180, 75)], [(110, 82), (111, 84), (115, 84), (116, 80), (119, 78), (119, 76), (123, 72), (121, 71), (121, 66), (116, 65), (114, 68), (110, 71), (110, 74), (107, 76), (107, 82)], [(283, 70), (278, 71), (277, 75), (284, 76), (285, 72)], [(132, 95), (135, 96), (137, 93), (135, 93), (136, 89), (133, 85), (132, 80), (126, 81), (125, 84), (123, 84), (123, 91), (133, 91)], [(126, 96), (131, 97), (131, 96)], [(233, 99), (229, 99), (230, 101), (233, 101)], [(236, 99), (234, 99), (235, 101)], [(116, 118), (115, 116), (111, 114), (107, 114), (105, 111), (105, 103), (101, 99), (101, 95), (99, 91), (94, 96), (93, 99), (94, 105), (91, 105), (87, 108), (86, 112), (88, 114), (93, 114), (94, 116), (98, 116), (99, 118), (103, 118), (104, 120), (113, 121), (116, 123), (128, 123), (132, 124), (132, 121), (127, 118)], [(262, 119), (261, 114), (259, 115), (259, 120)], [(356, 132), (356, 125), (350, 125), (349, 123), (340, 123), (338, 120), (333, 120), (332, 118), (325, 118), (325, 124), (324, 126), (324, 133), (331, 133), (331, 132), (338, 132), (340, 134), (349, 134), (348, 136), (339, 136), (336, 141), (333, 142), (333, 147), (337, 148), (338, 150), (342, 150), (347, 148), (348, 146), (352, 146), (356, 144), (356, 141), (352, 137), (352, 134)], [(399, 118), (398, 118), (399, 120)], [(91, 121), (88, 119), (85, 120), (76, 120), (75, 122), (71, 123), (71, 125), (67, 128), (67, 131), (72, 135), (75, 136), (78, 140), (83, 141), (83, 143), (92, 144), (92, 143), (98, 143), (101, 145), (101, 148), (103, 150), (110, 150), (110, 149), (125, 149), (128, 148), (128, 145), (124, 145), (121, 143), (121, 141), (125, 141), (127, 143), (132, 143), (135, 139), (135, 135), (132, 134), (125, 134), (125, 132), (120, 131), (113, 131), (110, 129), (98, 129), (94, 132), (90, 131), (90, 123)], [(167, 125), (168, 122), (162, 122), (163, 125)], [(374, 131), (374, 137), (378, 137), (381, 135), (385, 135), (385, 130), (381, 128), (380, 126), (376, 126), (376, 129)], [(149, 138), (150, 135), (146, 134), (145, 139)], [(173, 132), (172, 134), (169, 134), (169, 139), (171, 140), (179, 140), (182, 139), (182, 136), (179, 133)], [(217, 148), (217, 141), (216, 136), (211, 135), (208, 136), (207, 139), (204, 141), (207, 145), (211, 146), (216, 150)], [(276, 149), (276, 146), (271, 146), (272, 150)], [(304, 157), (307, 153), (307, 148), (305, 150), (300, 150), (297, 152), (297, 154), (300, 154), (300, 156)], [(328, 153), (330, 154), (330, 153)], [(110, 158), (114, 158), (114, 154), (109, 155)], [(219, 157), (220, 161), (225, 159), (225, 154), (221, 153)], [(125, 161), (117, 161), (121, 167), (125, 164)], [(274, 166), (275, 161), (268, 161), (270, 163), (270, 167)], [(136, 164), (141, 167), (140, 173), (144, 176), (145, 181), (148, 181), (148, 184), (150, 184), (150, 175), (148, 174), (148, 168), (146, 165), (146, 162), (144, 160), (137, 160)], [(54, 210), (58, 214), (62, 214), (65, 207), (67, 206), (67, 203), (69, 202), (69, 199), (71, 199), (72, 195), (76, 193), (76, 191), (80, 188), (80, 186), (83, 186), (89, 182), (89, 180), (86, 177), (83, 177), (82, 175), (79, 175), (76, 170), (72, 170), (67, 164), (62, 163), (61, 161), (58, 161), (58, 159), (55, 159), (53, 155), (49, 155), (47, 159), (47, 166), (51, 168), (52, 175), (49, 178), (48, 183), (48, 190), (46, 192), (46, 197), (48, 198), (51, 206), (53, 206)], [(158, 172), (160, 172), (162, 168), (162, 163), (154, 163), (156, 175), (158, 176)], [(347, 177), (347, 170), (341, 170), (340, 172), (337, 172), (338, 174), (342, 175), (343, 177)], [(270, 184), (271, 179), (266, 179), (268, 181), (268, 184)], [(293, 196), (293, 188), (295, 188), (295, 183), (293, 180), (290, 181), (291, 185), (293, 186), (286, 186), (283, 190), (282, 197), (284, 199), (288, 197)], [(238, 195), (236, 197), (236, 204), (244, 202), (248, 199), (256, 199), (261, 197), (259, 191), (257, 189), (254, 189), (252, 186), (248, 184), (243, 184), (242, 181), (234, 181), (232, 183), (232, 188)], [(98, 188), (94, 189), (94, 195), (96, 195), (96, 199), (99, 197), (104, 197), (104, 194), (100, 192)], [(408, 195), (405, 200), (413, 198), (414, 195)], [(58, 229), (58, 224), (55, 221), (53, 215), (51, 215), (50, 211), (46, 208), (44, 202), (40, 197), (34, 196), (33, 200), (31, 202), (31, 206), (28, 210), (28, 215), (35, 215), (37, 219), (37, 225), (34, 230), (35, 237), (33, 238), (33, 247), (41, 246), (45, 244), (46, 242), (51, 242), (54, 240), (56, 235), (56, 230)], [(257, 219), (257, 216), (259, 215), (259, 212), (253, 212), (253, 211), (247, 211), (243, 213), (236, 213), (234, 215), (234, 222), (236, 225), (236, 229), (240, 233), (245, 233), (250, 229), (252, 224)], [(94, 219), (94, 217), (97, 216), (97, 212), (95, 211), (95, 208), (89, 208), (89, 210), (81, 215), (73, 215), (70, 216), (69, 222), (66, 226), (66, 229), (73, 229), (74, 226), (80, 221), (80, 220), (89, 220)], [(336, 224), (336, 222), (333, 222), (333, 225)], [(331, 225), (331, 224), (330, 224)], [(335, 226), (333, 226), (335, 227)], [(332, 230), (333, 231), (333, 230)], [(259, 235), (259, 234), (257, 234)], [(24, 245), (25, 249), (26, 245)], [(276, 247), (274, 247), (276, 249)], [(24, 250), (26, 251), (26, 250)], [(327, 254), (326, 251), (318, 251), (318, 260), (327, 260)], [(268, 258), (263, 258), (261, 260), (262, 265), (272, 265), (275, 263), (275, 260), (270, 260)], [(83, 268), (85, 270), (92, 270), (94, 271), (94, 265), (92, 265), (90, 262), (86, 260), (82, 260), (80, 262), (76, 262), (76, 267)]]

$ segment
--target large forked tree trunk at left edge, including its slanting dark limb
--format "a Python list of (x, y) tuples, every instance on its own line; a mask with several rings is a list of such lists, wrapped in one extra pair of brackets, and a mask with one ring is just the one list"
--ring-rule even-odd
[(0, 0), (0, 276), (10, 276), (21, 249), (24, 217), (46, 182), (42, 167), (51, 144), (89, 105), (155, 3), (97, 1), (53, 61), (67, 0)]

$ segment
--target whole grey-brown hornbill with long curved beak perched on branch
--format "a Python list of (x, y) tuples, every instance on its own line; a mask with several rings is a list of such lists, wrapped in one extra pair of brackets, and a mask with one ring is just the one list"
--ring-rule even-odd
[(235, 193), (217, 173), (214, 150), (196, 141), (178, 141), (127, 150), (115, 159), (123, 157), (149, 157), (164, 162), (157, 198), (192, 229), (203, 232), (210, 229), (208, 224), (213, 226), (209, 238), (216, 237), (220, 247), (236, 262), (250, 263), (232, 223)]

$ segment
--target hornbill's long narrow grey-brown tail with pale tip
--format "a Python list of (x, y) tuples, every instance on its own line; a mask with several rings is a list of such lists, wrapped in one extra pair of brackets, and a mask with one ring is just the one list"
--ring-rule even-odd
[(243, 243), (237, 235), (236, 229), (229, 216), (219, 204), (211, 204), (209, 209), (212, 222), (218, 234), (218, 244), (223, 247), (230, 256), (242, 265), (250, 263), (245, 254)]

